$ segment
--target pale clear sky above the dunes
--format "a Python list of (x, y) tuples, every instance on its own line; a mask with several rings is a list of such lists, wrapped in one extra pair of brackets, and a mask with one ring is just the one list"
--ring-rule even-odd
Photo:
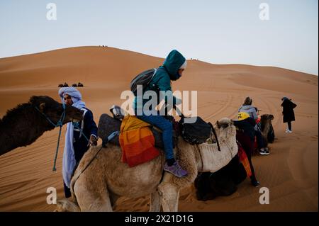
[(318, 75), (318, 0), (0, 1), (0, 58), (87, 45)]

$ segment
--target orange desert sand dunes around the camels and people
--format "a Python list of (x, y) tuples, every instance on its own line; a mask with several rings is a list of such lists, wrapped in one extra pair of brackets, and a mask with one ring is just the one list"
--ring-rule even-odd
[[(191, 56), (190, 56), (191, 57)], [(96, 124), (113, 104), (120, 105), (121, 91), (145, 69), (158, 67), (163, 59), (112, 47), (72, 47), (32, 55), (0, 59), (0, 117), (30, 96), (47, 95), (60, 101), (57, 85), (82, 82), (86, 106)], [(198, 115), (215, 123), (235, 119), (246, 96), (260, 113), (274, 115), (276, 140), (268, 156), (252, 159), (260, 187), (269, 188), (269, 205), (259, 204), (259, 188), (249, 179), (232, 196), (196, 200), (194, 186), (180, 193), (179, 211), (318, 211), (318, 77), (312, 74), (242, 64), (208, 64), (188, 60), (174, 90), (198, 91)], [(282, 123), (281, 97), (298, 106), (293, 133)], [(64, 198), (62, 152), (66, 126), (52, 172), (58, 128), (45, 132), (28, 147), (19, 147), (0, 157), (0, 211), (52, 211), (47, 188), (57, 188)], [(150, 197), (120, 198), (116, 211), (147, 211)]]

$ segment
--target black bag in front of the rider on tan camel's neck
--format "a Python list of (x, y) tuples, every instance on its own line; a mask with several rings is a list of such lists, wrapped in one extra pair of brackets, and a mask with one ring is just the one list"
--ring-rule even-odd
[(184, 117), (179, 120), (181, 137), (191, 145), (200, 145), (211, 137), (211, 125), (200, 117), (196, 117), (195, 123), (184, 123)]

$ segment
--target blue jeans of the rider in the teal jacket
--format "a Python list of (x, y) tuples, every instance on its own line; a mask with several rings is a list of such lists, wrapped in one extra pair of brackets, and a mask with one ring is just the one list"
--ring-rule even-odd
[(173, 159), (173, 125), (172, 122), (164, 118), (162, 115), (137, 115), (140, 120), (155, 125), (162, 130), (162, 139), (164, 143), (164, 152), (166, 159)]

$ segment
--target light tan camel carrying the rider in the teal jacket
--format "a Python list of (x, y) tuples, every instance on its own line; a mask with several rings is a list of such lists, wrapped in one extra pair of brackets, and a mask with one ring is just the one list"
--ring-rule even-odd
[(121, 147), (91, 147), (79, 162), (71, 180), (72, 197), (57, 200), (56, 211), (112, 211), (121, 196), (138, 198), (150, 195), (150, 211), (177, 211), (179, 191), (191, 185), (198, 172), (218, 171), (237, 154), (233, 121), (223, 118), (217, 123), (216, 143), (190, 145), (179, 137), (174, 149), (181, 166), (189, 172), (179, 179), (167, 172), (163, 176), (164, 154), (130, 168), (121, 162)]

